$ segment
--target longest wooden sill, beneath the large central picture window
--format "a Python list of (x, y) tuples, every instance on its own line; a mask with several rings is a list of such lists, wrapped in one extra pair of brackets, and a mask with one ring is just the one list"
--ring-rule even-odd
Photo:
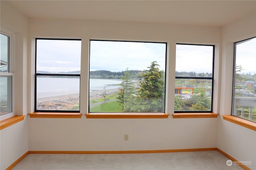
[(166, 113), (87, 113), (86, 118), (93, 119), (159, 119), (168, 118)]

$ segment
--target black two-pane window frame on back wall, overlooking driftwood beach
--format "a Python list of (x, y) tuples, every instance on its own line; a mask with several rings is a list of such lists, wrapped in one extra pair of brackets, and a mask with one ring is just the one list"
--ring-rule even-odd
[[(48, 112), (48, 113), (80, 113), (80, 106), (79, 110), (39, 110), (36, 108), (36, 89), (37, 89), (37, 76), (77, 76), (79, 77), (79, 103), (80, 103), (80, 88), (81, 88), (81, 73), (80, 74), (44, 74), (44, 73), (36, 73), (36, 54), (37, 54), (37, 40), (67, 40), (67, 41), (82, 41), (82, 39), (66, 39), (66, 38), (36, 38), (35, 39), (35, 89), (34, 89), (34, 112)], [(81, 66), (80, 66), (81, 67)]]

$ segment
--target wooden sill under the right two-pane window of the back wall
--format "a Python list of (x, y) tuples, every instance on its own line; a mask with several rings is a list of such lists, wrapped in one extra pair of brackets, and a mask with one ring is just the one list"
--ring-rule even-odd
[(216, 118), (218, 113), (174, 113), (172, 118)]

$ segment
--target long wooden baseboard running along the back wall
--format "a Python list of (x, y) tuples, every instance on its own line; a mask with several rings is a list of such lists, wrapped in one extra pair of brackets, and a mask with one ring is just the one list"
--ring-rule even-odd
[(28, 151), (29, 154), (135, 154), (135, 153), (167, 153), (196, 152), (217, 150), (217, 148), (169, 149), (169, 150), (116, 150), (116, 151)]

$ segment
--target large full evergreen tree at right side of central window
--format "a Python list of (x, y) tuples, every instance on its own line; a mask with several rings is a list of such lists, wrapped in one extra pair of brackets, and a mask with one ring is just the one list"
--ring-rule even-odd
[(148, 67), (149, 70), (144, 70), (139, 84), (138, 97), (132, 100), (131, 111), (164, 111), (164, 71), (159, 70), (158, 67), (159, 64), (153, 61)]

